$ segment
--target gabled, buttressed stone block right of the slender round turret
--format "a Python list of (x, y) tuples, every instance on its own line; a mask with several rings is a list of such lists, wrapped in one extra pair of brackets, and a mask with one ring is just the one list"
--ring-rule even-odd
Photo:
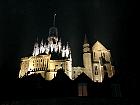
[(102, 82), (104, 76), (111, 78), (114, 74), (114, 66), (111, 65), (110, 50), (107, 50), (99, 41), (93, 47), (93, 80)]

